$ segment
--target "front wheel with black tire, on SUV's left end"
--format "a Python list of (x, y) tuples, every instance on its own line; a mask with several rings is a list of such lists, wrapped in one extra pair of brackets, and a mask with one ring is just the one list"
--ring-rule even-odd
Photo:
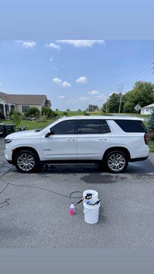
[[(29, 161), (29, 166), (31, 164), (31, 169), (27, 169), (25, 164), (25, 169), (21, 168), (22, 166), (22, 160), (20, 160), (21, 158), (25, 161), (25, 158), (23, 157), (23, 155), (27, 155), (27, 161)], [(28, 158), (29, 155), (29, 158)], [(31, 162), (30, 162), (31, 161)], [(33, 151), (30, 150), (21, 150), (18, 153), (16, 153), (16, 157), (14, 160), (14, 165), (16, 166), (16, 169), (18, 169), (18, 171), (20, 171), (21, 173), (31, 173), (34, 171), (38, 171), (40, 169), (40, 159), (38, 158), (38, 155), (36, 153), (34, 153)], [(24, 165), (23, 165), (24, 167)]]

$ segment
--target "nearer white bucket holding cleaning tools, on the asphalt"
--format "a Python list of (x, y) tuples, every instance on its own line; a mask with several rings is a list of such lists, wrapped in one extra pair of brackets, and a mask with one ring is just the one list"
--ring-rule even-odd
[[(93, 198), (92, 203), (95, 203), (96, 201), (99, 201), (98, 198)], [(91, 199), (90, 199), (91, 202)], [(91, 206), (84, 203), (84, 221), (86, 223), (98, 223), (99, 221), (99, 208), (100, 208), (100, 202), (98, 205)]]

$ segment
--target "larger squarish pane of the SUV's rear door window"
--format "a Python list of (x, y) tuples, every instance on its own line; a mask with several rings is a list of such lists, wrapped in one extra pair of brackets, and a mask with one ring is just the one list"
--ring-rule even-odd
[(79, 134), (99, 134), (99, 120), (80, 120)]

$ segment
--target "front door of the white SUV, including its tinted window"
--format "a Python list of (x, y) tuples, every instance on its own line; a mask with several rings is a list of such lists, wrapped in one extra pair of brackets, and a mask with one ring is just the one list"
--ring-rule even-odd
[(50, 130), (51, 136), (42, 138), (44, 160), (77, 160), (77, 121), (61, 121)]

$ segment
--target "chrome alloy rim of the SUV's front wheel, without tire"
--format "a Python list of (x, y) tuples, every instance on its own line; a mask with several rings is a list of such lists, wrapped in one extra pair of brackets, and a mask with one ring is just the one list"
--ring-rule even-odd
[(17, 164), (22, 171), (31, 171), (34, 168), (35, 159), (29, 153), (22, 153), (18, 156)]

